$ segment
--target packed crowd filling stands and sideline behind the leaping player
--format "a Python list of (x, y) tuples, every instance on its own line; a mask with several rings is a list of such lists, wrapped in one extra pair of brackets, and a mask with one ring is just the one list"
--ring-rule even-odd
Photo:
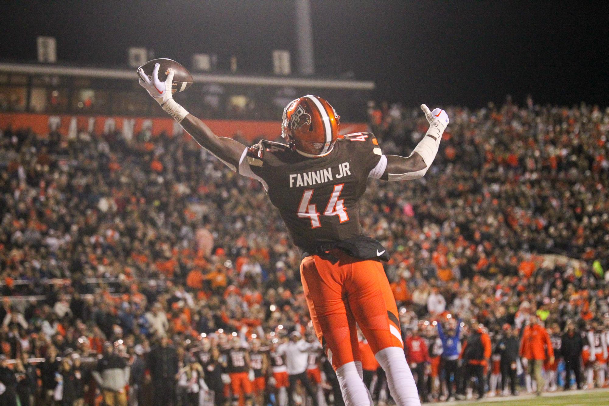
[[(369, 107), (384, 153), (426, 131), (418, 110)], [(370, 181), (361, 204), (392, 254), (421, 399), (605, 386), (609, 110), (446, 111), (427, 175)], [(3, 128), (0, 405), (339, 405), (300, 259), (261, 184), (186, 137)], [(306, 379), (292, 342), (317, 355)], [(366, 347), (364, 379), (390, 402)]]

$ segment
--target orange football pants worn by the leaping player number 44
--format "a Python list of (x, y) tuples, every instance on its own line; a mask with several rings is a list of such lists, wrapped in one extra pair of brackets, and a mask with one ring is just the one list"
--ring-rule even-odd
[(336, 264), (318, 255), (305, 257), (300, 278), (317, 338), (336, 370), (361, 361), (357, 325), (372, 352), (403, 348), (398, 308), (381, 262), (331, 251)]

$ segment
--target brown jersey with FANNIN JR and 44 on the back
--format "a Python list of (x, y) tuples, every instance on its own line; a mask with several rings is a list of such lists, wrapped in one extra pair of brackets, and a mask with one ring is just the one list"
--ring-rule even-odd
[(319, 158), (261, 141), (245, 152), (239, 173), (264, 184), (294, 244), (312, 253), (322, 243), (362, 234), (358, 201), (381, 156), (371, 133), (339, 138), (333, 150)]

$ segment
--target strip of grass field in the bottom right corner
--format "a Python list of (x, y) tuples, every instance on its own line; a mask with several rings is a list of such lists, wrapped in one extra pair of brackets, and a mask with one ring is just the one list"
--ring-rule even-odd
[[(439, 405), (439, 404), (438, 404)], [(449, 402), (444, 405), (462, 406), (609, 406), (609, 389), (544, 393), (543, 396), (493, 397), (481, 401)]]

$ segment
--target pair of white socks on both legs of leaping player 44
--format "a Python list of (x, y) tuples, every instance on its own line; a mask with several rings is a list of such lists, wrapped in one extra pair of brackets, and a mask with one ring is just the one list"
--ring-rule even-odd
[[(404, 350), (398, 347), (384, 348), (375, 357), (387, 375), (387, 385), (395, 404), (420, 406), (417, 385), (406, 362)], [(340, 391), (346, 406), (373, 406), (372, 397), (362, 380), (361, 363), (359, 364), (348, 362), (336, 370)]]

